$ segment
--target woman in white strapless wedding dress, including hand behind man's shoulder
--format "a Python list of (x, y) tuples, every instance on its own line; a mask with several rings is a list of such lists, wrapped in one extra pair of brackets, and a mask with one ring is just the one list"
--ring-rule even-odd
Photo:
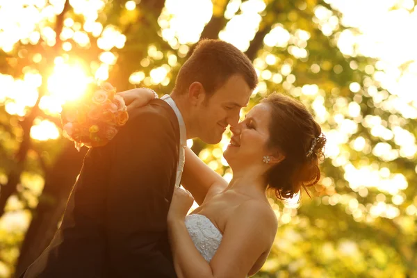
[[(121, 92), (128, 109), (145, 105), (153, 92)], [(224, 158), (233, 171), (228, 183), (186, 149), (181, 184), (167, 215), (178, 277), (247, 277), (270, 253), (277, 218), (267, 190), (291, 198), (320, 179), (318, 162), (326, 138), (300, 101), (273, 94), (231, 127)], [(193, 201), (199, 207), (187, 215)]]

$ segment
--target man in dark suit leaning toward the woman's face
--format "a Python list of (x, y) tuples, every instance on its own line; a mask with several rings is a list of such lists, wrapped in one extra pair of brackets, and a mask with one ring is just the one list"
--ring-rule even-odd
[(108, 145), (90, 149), (60, 229), (22, 277), (176, 277), (166, 218), (186, 139), (220, 142), (256, 83), (236, 47), (199, 42), (171, 96), (131, 111)]

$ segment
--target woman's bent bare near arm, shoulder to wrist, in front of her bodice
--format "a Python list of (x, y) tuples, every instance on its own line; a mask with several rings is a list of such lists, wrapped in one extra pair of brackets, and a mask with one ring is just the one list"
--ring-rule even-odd
[(177, 208), (170, 208), (168, 233), (178, 277), (243, 278), (259, 271), (263, 262), (257, 262), (259, 258), (268, 256), (277, 232), (275, 214), (265, 207), (265, 204), (249, 201), (236, 208), (210, 263), (199, 254), (191, 240), (184, 217), (172, 213), (172, 209), (175, 211)]

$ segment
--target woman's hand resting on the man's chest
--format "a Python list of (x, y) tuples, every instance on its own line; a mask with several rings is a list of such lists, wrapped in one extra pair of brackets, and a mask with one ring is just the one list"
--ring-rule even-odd
[(174, 195), (172, 195), (172, 201), (170, 210), (168, 211), (167, 220), (184, 220), (191, 206), (193, 206), (194, 198), (190, 192), (181, 188), (174, 188)]

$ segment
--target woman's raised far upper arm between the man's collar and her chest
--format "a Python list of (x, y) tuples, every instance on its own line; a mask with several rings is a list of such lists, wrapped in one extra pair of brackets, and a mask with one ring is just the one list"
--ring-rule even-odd
[(187, 147), (181, 184), (193, 195), (195, 202), (201, 205), (208, 190), (223, 190), (227, 181), (211, 170), (194, 152)]

